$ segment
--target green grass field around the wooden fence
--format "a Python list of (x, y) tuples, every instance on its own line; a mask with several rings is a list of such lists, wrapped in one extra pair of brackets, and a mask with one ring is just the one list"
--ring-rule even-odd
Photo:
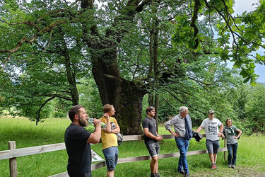
[[(64, 142), (64, 131), (71, 123), (69, 119), (47, 119), (35, 125), (26, 118), (0, 118), (0, 151), (8, 149), (8, 141), (16, 141), (16, 148), (34, 147), (44, 144)], [(161, 125), (159, 134), (169, 134)], [(220, 142), (223, 147), (223, 141)], [(95, 144), (92, 149), (104, 157), (101, 144)], [(189, 151), (206, 149), (205, 139), (190, 142)], [(242, 136), (237, 151), (237, 169), (228, 169), (223, 159), (223, 152), (218, 154), (218, 169), (211, 171), (208, 154), (188, 156), (191, 176), (265, 176), (265, 136)], [(178, 152), (174, 139), (164, 139), (160, 142), (160, 154)], [(119, 147), (119, 157), (148, 155), (143, 141), (122, 142)], [(179, 176), (177, 174), (178, 158), (160, 159), (160, 176)], [(150, 176), (150, 161), (139, 161), (118, 164), (115, 176)], [(66, 171), (67, 154), (65, 150), (23, 156), (17, 158), (18, 176), (52, 176)], [(105, 176), (106, 169), (97, 169), (93, 176)], [(9, 176), (8, 159), (0, 160), (0, 176)]]

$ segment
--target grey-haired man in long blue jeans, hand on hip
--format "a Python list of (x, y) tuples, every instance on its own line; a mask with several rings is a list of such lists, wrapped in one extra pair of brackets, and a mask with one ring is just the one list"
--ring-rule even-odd
[[(165, 129), (175, 136), (177, 148), (179, 149), (179, 164), (177, 172), (184, 176), (189, 176), (189, 166), (187, 162), (187, 151), (189, 140), (192, 139), (192, 119), (188, 115), (189, 111), (186, 106), (179, 108), (179, 114), (165, 123)], [(175, 132), (172, 132), (171, 125), (174, 125)]]

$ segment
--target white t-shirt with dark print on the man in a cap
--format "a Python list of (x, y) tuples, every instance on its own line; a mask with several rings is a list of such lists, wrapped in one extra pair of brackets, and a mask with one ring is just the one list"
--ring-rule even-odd
[(201, 127), (204, 127), (206, 139), (210, 139), (211, 141), (218, 140), (218, 126), (221, 124), (222, 122), (216, 118), (213, 118), (213, 120), (210, 120), (209, 118), (204, 119), (204, 121), (201, 122)]

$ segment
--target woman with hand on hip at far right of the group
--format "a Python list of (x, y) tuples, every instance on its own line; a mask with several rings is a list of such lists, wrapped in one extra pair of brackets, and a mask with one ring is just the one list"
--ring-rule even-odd
[[(238, 132), (238, 134), (236, 134)], [(228, 167), (235, 168), (235, 161), (237, 161), (237, 139), (239, 139), (242, 131), (239, 130), (235, 125), (232, 125), (232, 120), (227, 119), (225, 121), (224, 135), (227, 139), (228, 145)]]

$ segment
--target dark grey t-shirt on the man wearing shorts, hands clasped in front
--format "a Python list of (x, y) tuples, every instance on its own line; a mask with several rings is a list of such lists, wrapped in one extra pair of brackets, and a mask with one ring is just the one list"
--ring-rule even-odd
[[(151, 134), (155, 135), (155, 137), (157, 136), (156, 135), (156, 121), (155, 121), (155, 119), (147, 117), (143, 120), (142, 125), (143, 125), (143, 128), (148, 128), (148, 131), (151, 132)], [(146, 144), (152, 144), (152, 143), (155, 143), (158, 141), (144, 135), (144, 142)]]

